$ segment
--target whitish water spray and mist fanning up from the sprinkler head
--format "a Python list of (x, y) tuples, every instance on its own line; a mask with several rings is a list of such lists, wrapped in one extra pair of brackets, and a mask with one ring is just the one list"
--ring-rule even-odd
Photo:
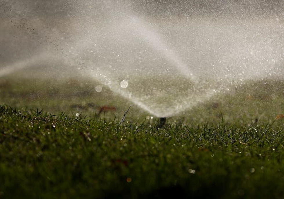
[(273, 6), (186, 1), (160, 12), (149, 2), (28, 2), (25, 11), (3, 11), (0, 76), (37, 65), (80, 74), (159, 118), (246, 81), (283, 80), (283, 23)]

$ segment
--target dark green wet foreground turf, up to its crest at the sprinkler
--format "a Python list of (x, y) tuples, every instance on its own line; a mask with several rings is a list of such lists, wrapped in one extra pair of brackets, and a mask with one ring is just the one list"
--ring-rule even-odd
[(283, 128), (0, 107), (1, 198), (283, 198)]

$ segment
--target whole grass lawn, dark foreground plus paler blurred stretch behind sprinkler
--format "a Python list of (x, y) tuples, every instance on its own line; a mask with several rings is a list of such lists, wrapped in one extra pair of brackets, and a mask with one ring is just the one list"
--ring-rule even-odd
[[(284, 196), (281, 81), (243, 86), (163, 128), (135, 106), (119, 125), (130, 103), (88, 81), (17, 81), (0, 81), (0, 103), (16, 107), (0, 106), (0, 198)], [(117, 112), (97, 117), (105, 104)]]

